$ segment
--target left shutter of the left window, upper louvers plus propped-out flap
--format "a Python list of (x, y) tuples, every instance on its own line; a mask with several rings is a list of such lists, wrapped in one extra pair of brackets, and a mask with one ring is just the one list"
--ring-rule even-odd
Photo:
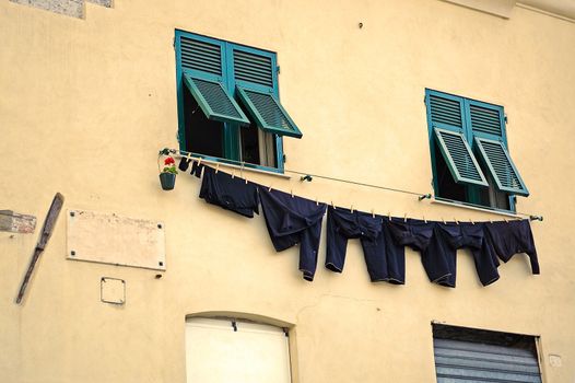
[(180, 36), (178, 59), (184, 83), (209, 119), (249, 125), (224, 85), (223, 44), (207, 37)]

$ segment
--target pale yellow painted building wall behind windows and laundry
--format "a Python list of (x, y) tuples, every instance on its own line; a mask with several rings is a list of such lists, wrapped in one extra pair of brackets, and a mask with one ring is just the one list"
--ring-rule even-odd
[[(211, 311), (292, 324), (298, 382), (433, 382), (432, 321), (540, 335), (545, 382), (574, 381), (575, 24), (436, 0), (86, 8), (78, 20), (0, 2), (0, 208), (42, 222), (60, 192), (66, 208), (164, 221), (167, 271), (66, 260), (60, 218), (17, 306), (38, 230), (0, 233), (1, 381), (181, 383), (185, 317)], [(308, 283), (262, 218), (207, 205), (186, 174), (161, 192), (157, 150), (177, 147), (175, 28), (278, 53), (281, 100), (304, 132), (284, 140), (290, 170), (431, 193), (424, 89), (504, 105), (531, 193), (517, 209), (545, 219), (532, 225), (542, 274), (516, 256), (483, 288), (460, 252), (457, 288), (445, 289), (407, 251), (407, 285), (373, 285), (352, 241), (342, 275), (322, 267), (322, 243)], [(501, 219), (319, 178), (250, 179), (379, 213)], [(126, 305), (99, 302), (104, 276), (126, 280)]]

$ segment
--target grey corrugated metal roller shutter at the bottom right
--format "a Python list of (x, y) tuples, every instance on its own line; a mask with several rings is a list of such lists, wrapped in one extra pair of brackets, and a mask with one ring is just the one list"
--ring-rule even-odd
[(437, 383), (541, 383), (530, 350), (453, 339), (433, 339)]

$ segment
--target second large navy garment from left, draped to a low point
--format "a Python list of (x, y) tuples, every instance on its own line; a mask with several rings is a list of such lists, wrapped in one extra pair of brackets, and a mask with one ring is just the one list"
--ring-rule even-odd
[(305, 280), (314, 280), (326, 205), (263, 186), (259, 194), (273, 247), (281, 252), (300, 244), (300, 270)]

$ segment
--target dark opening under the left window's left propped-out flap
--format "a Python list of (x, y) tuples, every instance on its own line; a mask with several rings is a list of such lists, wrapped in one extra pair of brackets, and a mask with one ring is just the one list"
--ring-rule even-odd
[(186, 151), (210, 156), (224, 156), (224, 124), (208, 119), (186, 89), (184, 91)]

